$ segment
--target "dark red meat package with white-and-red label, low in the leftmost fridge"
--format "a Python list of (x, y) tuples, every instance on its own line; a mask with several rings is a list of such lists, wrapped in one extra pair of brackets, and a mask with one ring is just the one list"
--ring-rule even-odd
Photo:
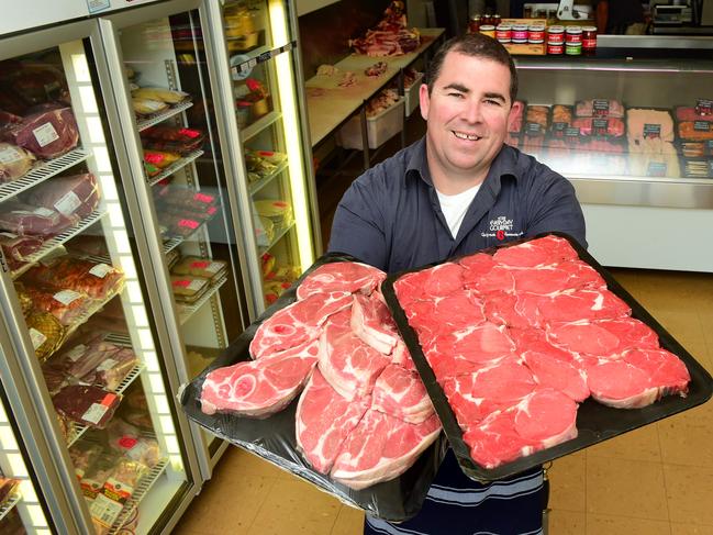
[(121, 402), (121, 394), (91, 384), (69, 384), (52, 401), (63, 416), (89, 427), (103, 430)]

